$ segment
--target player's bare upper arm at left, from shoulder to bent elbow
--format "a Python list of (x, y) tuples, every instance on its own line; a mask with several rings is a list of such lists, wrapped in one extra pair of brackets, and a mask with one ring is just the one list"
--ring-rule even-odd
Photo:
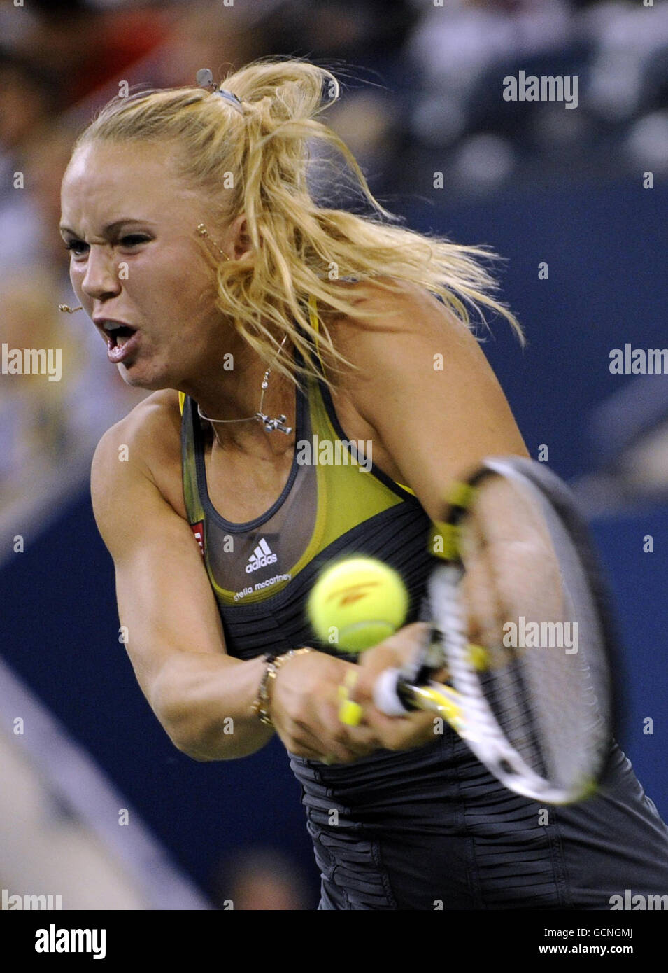
[[(127, 461), (120, 459), (126, 446)], [(127, 420), (100, 440), (91, 469), (95, 521), (114, 559), (126, 648), (149, 703), (164, 664), (224, 653), (220, 615), (190, 525), (167, 503)]]

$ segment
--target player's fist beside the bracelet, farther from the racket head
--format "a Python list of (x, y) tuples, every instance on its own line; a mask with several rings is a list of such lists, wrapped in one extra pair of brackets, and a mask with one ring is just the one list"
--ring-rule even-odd
[(357, 727), (338, 719), (338, 687), (358, 667), (324, 652), (294, 656), (276, 673), (269, 712), (276, 733), (298, 757), (347, 764), (382, 745), (364, 719)]

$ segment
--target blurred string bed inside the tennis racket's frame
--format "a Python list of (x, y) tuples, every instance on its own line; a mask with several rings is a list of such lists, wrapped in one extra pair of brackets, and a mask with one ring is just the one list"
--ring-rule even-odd
[(465, 624), (481, 648), (467, 691), (536, 774), (568, 788), (592, 774), (607, 726), (595, 688), (605, 678), (596, 606), (578, 550), (540, 492), (488, 483), (461, 524)]

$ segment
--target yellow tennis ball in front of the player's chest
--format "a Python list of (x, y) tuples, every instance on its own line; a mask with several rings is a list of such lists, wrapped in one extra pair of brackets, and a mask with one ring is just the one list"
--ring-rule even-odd
[(345, 652), (364, 652), (401, 629), (408, 593), (381, 560), (346, 558), (326, 567), (308, 598), (316, 635)]

